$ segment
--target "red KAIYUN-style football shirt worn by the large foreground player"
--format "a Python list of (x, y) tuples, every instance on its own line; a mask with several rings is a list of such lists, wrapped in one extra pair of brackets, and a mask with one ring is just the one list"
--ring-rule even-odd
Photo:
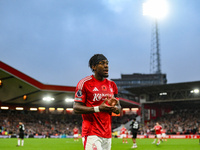
[[(82, 102), (88, 107), (99, 106), (108, 95), (113, 97), (118, 94), (116, 84), (108, 79), (99, 81), (93, 75), (79, 81), (75, 92), (75, 102)], [(82, 114), (82, 136), (97, 135), (111, 138), (111, 113), (98, 112)]]

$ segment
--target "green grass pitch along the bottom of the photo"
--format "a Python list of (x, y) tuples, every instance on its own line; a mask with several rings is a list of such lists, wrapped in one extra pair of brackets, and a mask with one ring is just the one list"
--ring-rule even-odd
[[(152, 144), (153, 139), (137, 139), (137, 150), (200, 150), (199, 139), (168, 139), (159, 146)], [(16, 147), (17, 139), (0, 139), (0, 150), (83, 150), (81, 139), (25, 139), (24, 146)], [(122, 139), (112, 139), (112, 150), (131, 150), (132, 140), (127, 144)]]

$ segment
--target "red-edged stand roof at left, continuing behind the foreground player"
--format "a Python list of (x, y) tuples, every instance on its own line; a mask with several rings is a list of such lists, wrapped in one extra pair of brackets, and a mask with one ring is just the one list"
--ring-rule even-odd
[[(43, 84), (15, 68), (0, 61), (0, 105), (65, 107), (72, 108), (75, 88)], [(52, 97), (54, 101), (43, 101), (44, 97)], [(138, 107), (140, 104), (120, 98), (122, 107)]]

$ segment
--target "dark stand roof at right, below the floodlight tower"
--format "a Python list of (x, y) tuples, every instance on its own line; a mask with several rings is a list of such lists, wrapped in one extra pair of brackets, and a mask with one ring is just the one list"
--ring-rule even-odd
[(200, 104), (200, 81), (135, 87), (127, 90), (140, 100), (142, 97), (144, 103), (193, 101)]

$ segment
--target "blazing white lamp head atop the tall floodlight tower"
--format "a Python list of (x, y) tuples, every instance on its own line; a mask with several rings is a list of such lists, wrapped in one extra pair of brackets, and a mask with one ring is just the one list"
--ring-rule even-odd
[(166, 0), (149, 0), (143, 3), (143, 15), (161, 19), (168, 14), (168, 4)]

